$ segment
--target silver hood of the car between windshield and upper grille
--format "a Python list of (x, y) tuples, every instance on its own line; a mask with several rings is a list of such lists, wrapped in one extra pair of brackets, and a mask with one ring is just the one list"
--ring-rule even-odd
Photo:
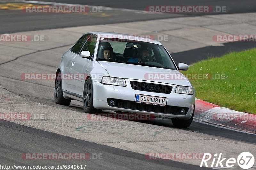
[(98, 62), (108, 71), (110, 77), (190, 86), (188, 79), (177, 70), (106, 61)]

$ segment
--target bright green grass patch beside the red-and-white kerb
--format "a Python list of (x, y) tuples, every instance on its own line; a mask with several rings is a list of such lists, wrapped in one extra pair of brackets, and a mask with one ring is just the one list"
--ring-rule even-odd
[[(187, 73), (209, 73), (209, 80), (192, 80), (196, 97), (230, 109), (256, 114), (256, 48), (232, 52), (193, 64)], [(214, 79), (214, 75), (222, 78)], [(211, 77), (211, 76), (209, 76)]]

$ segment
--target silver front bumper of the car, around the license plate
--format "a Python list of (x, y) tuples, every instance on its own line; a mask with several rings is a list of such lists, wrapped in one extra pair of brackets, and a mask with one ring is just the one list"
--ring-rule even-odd
[[(126, 80), (126, 87), (123, 86), (115, 86), (115, 85), (104, 85), (100, 82), (93, 82), (93, 106), (97, 109), (103, 110), (114, 110), (119, 112), (130, 112), (130, 113), (140, 113), (140, 114), (147, 114), (147, 115), (156, 115), (166, 118), (180, 118), (180, 119), (190, 119), (193, 114), (193, 109), (195, 107), (195, 94), (188, 95), (188, 94), (178, 94), (175, 93), (176, 85), (172, 86), (172, 92), (170, 94), (165, 93), (156, 93), (156, 92), (147, 92), (147, 91), (140, 91), (134, 90), (131, 87), (130, 79)], [(145, 82), (147, 81), (142, 81)], [(152, 82), (150, 82), (152, 83)], [(155, 83), (155, 82), (154, 82)], [(155, 83), (158, 85), (167, 85), (164, 83)], [(185, 115), (178, 115), (178, 114), (170, 114), (170, 113), (156, 113), (152, 111), (145, 111), (145, 110), (136, 110), (130, 108), (120, 108), (120, 107), (113, 107), (108, 104), (108, 99), (119, 99), (119, 100), (127, 100), (129, 102), (133, 102), (135, 100), (136, 94), (144, 94), (149, 96), (156, 96), (156, 97), (166, 97), (167, 98), (167, 106), (172, 107), (186, 107), (188, 108), (188, 112)], [(142, 104), (147, 105), (147, 104)], [(152, 107), (152, 105), (150, 105)], [(164, 106), (161, 106), (164, 107)]]

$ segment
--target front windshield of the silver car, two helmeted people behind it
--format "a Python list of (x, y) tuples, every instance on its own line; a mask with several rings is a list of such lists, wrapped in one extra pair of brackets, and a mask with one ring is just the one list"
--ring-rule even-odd
[(170, 55), (162, 45), (126, 39), (100, 39), (98, 61), (176, 70)]

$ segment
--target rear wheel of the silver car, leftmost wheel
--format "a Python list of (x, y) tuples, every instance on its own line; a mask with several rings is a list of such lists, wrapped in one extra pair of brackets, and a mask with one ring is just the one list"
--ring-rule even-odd
[(62, 92), (61, 73), (57, 73), (55, 80), (54, 101), (57, 104), (69, 106), (71, 99), (65, 99)]

